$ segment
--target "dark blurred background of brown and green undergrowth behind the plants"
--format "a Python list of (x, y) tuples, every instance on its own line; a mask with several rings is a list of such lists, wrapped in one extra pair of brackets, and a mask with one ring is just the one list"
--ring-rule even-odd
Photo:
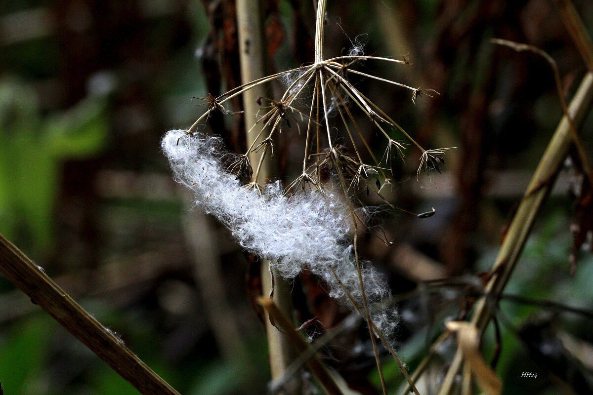
[[(272, 70), (313, 60), (312, 2), (265, 4)], [(593, 3), (575, 5), (591, 31)], [(160, 152), (166, 130), (189, 127), (202, 114), (192, 97), (239, 85), (234, 13), (231, 0), (0, 2), (0, 231), (183, 394), (262, 394), (269, 380), (264, 329), (246, 284), (257, 277), (253, 257), (192, 210)], [(410, 59), (412, 66), (365, 67), (440, 95), (414, 104), (408, 91), (356, 84), (423, 146), (458, 147), (432, 178), (416, 180), (412, 150), (393, 166), (393, 200), (437, 213), (385, 215), (395, 245), (366, 236), (362, 248), (396, 297), (416, 290), (400, 303), (400, 351), (413, 368), (468, 297), (466, 287), (423, 293), (417, 284), (445, 277), (449, 285), (475, 284), (490, 268), (562, 114), (549, 65), (490, 39), (546, 50), (567, 94), (585, 66), (550, 0), (330, 1), (326, 29), (329, 56), (358, 40), (368, 54)], [(240, 114), (219, 115), (206, 130), (243, 152), (242, 127)], [(591, 127), (589, 119), (588, 152)], [(380, 155), (384, 142), (367, 133)], [(301, 140), (295, 128), (282, 136), (278, 176), (289, 181)], [(567, 160), (507, 293), (593, 308), (593, 259), (581, 251), (590, 248), (591, 231), (574, 275), (569, 259), (581, 184), (578, 163)], [(299, 317), (338, 323), (345, 311), (314, 283), (295, 281)], [(503, 300), (498, 318), (505, 394), (591, 393), (590, 316)], [(311, 338), (324, 332), (307, 330)], [(493, 339), (488, 332), (487, 357)], [(369, 350), (361, 327), (324, 352), (353, 387), (374, 394)], [(453, 352), (454, 343), (443, 345), (436, 365), (445, 367)], [(386, 362), (385, 371), (397, 388), (396, 367)], [(521, 378), (524, 371), (538, 378)], [(433, 390), (441, 373), (431, 370)], [(137, 393), (4, 278), (0, 381), (10, 395)]]

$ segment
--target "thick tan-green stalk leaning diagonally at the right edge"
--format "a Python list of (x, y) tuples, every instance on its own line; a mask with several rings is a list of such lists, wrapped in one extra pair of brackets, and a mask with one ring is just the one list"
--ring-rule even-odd
[[(589, 72), (585, 75), (569, 106), (570, 117), (572, 117), (573, 124), (577, 129), (582, 126), (592, 101), (593, 73)], [(535, 217), (553, 187), (556, 175), (560, 171), (560, 168), (562, 168), (562, 163), (566, 155), (568, 155), (572, 142), (570, 123), (568, 117), (564, 116), (560, 120), (546, 152), (544, 152), (544, 155), (540, 159), (540, 163), (527, 187), (521, 204), (519, 204), (511, 226), (509, 226), (505, 240), (502, 246), (500, 246), (500, 251), (492, 266), (492, 277), (485, 288), (486, 296), (481, 297), (476, 303), (474, 313), (471, 317), (471, 323), (478, 328), (480, 334), (484, 332), (490, 321), (492, 314), (491, 304), (496, 302), (506, 282), (511, 277), (527, 241)], [(462, 365), (463, 355), (458, 349), (445, 376), (439, 395), (450, 395), (453, 393), (455, 377)]]

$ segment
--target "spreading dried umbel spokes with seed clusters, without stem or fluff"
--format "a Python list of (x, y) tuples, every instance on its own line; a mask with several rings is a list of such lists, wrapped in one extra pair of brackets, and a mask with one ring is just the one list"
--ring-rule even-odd
[[(360, 45), (360, 44), (359, 44)], [(360, 46), (354, 47), (350, 53), (360, 52)], [(433, 89), (413, 88), (400, 84), (399, 82), (373, 76), (369, 73), (361, 72), (353, 69), (356, 63), (364, 62), (365, 60), (381, 60), (384, 62), (409, 64), (406, 60), (390, 59), (387, 57), (364, 56), (362, 54), (349, 54), (347, 56), (334, 57), (332, 59), (321, 60), (311, 65), (301, 66), (296, 69), (286, 70), (274, 75), (266, 76), (256, 81), (249, 82), (231, 89), (219, 97), (209, 95), (208, 98), (199, 98), (205, 101), (208, 106), (202, 116), (187, 130), (192, 133), (196, 127), (206, 120), (212, 111), (222, 111), (224, 114), (230, 114), (230, 111), (224, 107), (225, 102), (232, 98), (243, 94), (255, 86), (267, 84), (273, 80), (282, 80), (287, 88), (278, 100), (260, 98), (259, 104), (267, 101), (267, 105), (262, 105), (261, 113), (258, 114), (258, 119), (255, 124), (250, 126), (248, 133), (257, 133), (257, 137), (253, 139), (253, 143), (248, 147), (247, 152), (238, 156), (237, 160), (229, 166), (229, 171), (233, 172), (238, 178), (244, 176), (254, 176), (250, 187), (261, 188), (257, 185), (259, 178), (259, 171), (263, 160), (267, 155), (273, 155), (273, 141), (276, 134), (289, 123), (289, 117), (301, 120), (307, 120), (307, 136), (305, 143), (305, 152), (302, 165), (302, 174), (289, 185), (288, 189), (296, 186), (310, 185), (314, 188), (323, 188), (320, 182), (319, 172), (323, 165), (330, 165), (331, 168), (344, 169), (345, 176), (350, 175), (350, 187), (357, 185), (359, 181), (365, 180), (367, 187), (371, 188), (374, 182), (369, 182), (370, 175), (381, 174), (386, 182), (390, 179), (385, 174), (385, 168), (381, 167), (381, 162), (388, 164), (391, 158), (397, 153), (401, 159), (404, 155), (404, 142), (402, 140), (394, 139), (390, 136), (388, 131), (397, 129), (404, 137), (415, 145), (421, 152), (420, 166), (417, 170), (417, 175), (422, 173), (431, 174), (432, 171), (440, 168), (444, 163), (442, 159), (449, 148), (441, 149), (423, 149), (406, 131), (397, 124), (389, 115), (385, 114), (374, 102), (367, 98), (361, 91), (359, 91), (350, 81), (349, 75), (360, 75), (366, 78), (376, 79), (400, 86), (404, 89), (409, 89), (412, 92), (412, 100), (415, 101), (419, 97), (432, 97), (431, 93), (437, 93)], [(313, 86), (313, 93), (308, 95), (307, 109), (301, 110), (298, 108), (304, 101), (305, 93), (311, 92)], [(369, 118), (372, 126), (377, 128), (381, 134), (387, 139), (387, 149), (381, 159), (378, 159), (374, 152), (372, 152), (369, 145), (364, 139), (361, 127), (353, 117), (352, 110), (349, 108), (358, 107), (362, 113)], [(350, 141), (351, 147), (355, 151), (355, 156), (346, 155), (339, 144), (335, 144), (331, 137), (331, 126), (328, 121), (330, 114), (336, 114), (342, 121), (343, 130), (346, 131), (345, 137)], [(297, 122), (298, 125), (298, 122)], [(299, 128), (300, 131), (300, 128)], [(374, 160), (373, 165), (365, 164), (362, 160), (361, 153), (358, 150), (358, 144), (355, 141), (355, 135), (358, 135), (361, 142), (364, 144), (369, 156)], [(316, 143), (316, 144), (315, 144)], [(327, 145), (324, 145), (327, 144)], [(315, 150), (315, 151), (314, 151)], [(253, 172), (252, 164), (247, 158), (250, 152), (260, 152), (260, 159), (257, 163), (256, 170)], [(311, 163), (311, 158), (315, 160)], [(350, 188), (349, 188), (350, 189)], [(373, 188), (378, 192), (380, 188)], [(387, 202), (385, 202), (387, 203)]]

